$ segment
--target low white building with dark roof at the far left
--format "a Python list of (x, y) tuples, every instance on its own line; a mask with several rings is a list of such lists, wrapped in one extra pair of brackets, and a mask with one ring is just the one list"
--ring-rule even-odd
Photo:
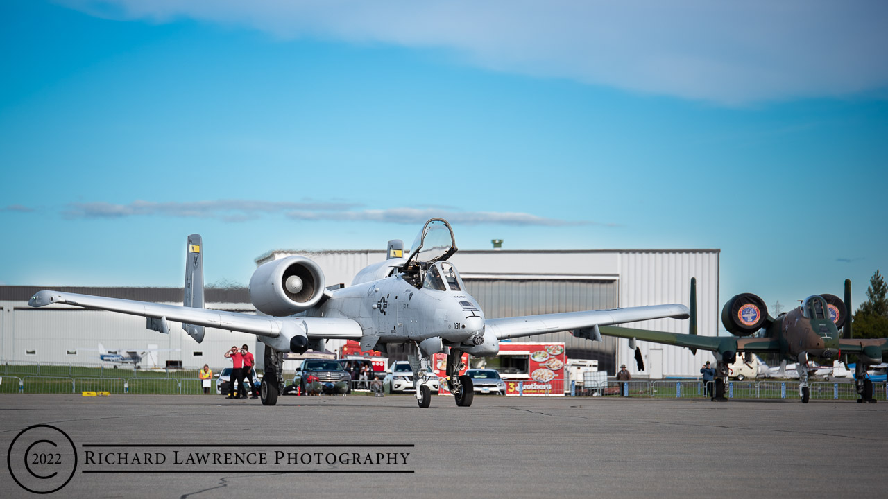
[[(123, 313), (86, 310), (67, 305), (41, 308), (28, 306), (28, 299), (41, 289), (56, 289), (83, 295), (182, 305), (181, 288), (88, 288), (59, 286), (0, 286), (0, 360), (27, 364), (99, 364), (99, 344), (108, 351), (147, 352), (144, 368), (174, 362), (183, 368), (209, 364), (214, 370), (230, 366), (224, 358), (232, 345), (250, 345), (256, 352), (256, 337), (246, 333), (207, 329), (197, 343), (170, 321), (170, 334), (146, 328), (144, 317)], [(207, 308), (255, 313), (246, 288), (205, 290)], [(180, 362), (180, 364), (178, 364)]]

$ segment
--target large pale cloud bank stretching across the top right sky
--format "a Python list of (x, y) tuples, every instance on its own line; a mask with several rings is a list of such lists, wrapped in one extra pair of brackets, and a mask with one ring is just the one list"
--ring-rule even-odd
[(888, 83), (888, 3), (857, 0), (63, 0), (121, 20), (452, 49), (489, 69), (728, 105)]

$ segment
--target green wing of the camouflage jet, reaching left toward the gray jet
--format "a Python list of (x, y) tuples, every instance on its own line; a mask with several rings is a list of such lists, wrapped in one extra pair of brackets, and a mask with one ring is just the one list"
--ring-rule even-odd
[[(780, 342), (773, 338), (739, 338), (739, 337), (701, 337), (683, 333), (666, 333), (651, 329), (617, 328), (607, 326), (601, 328), (601, 334), (609, 337), (635, 338), (663, 345), (684, 346), (695, 350), (711, 352), (780, 352)], [(586, 337), (577, 335), (574, 336)]]

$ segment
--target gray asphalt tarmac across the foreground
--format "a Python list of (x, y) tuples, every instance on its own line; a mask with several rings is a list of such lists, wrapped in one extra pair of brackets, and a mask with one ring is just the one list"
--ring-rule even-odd
[[(0, 412), (4, 497), (33, 496), (16, 480), (61, 486), (50, 496), (214, 499), (844, 497), (888, 486), (884, 401), (485, 396), (471, 408), (436, 397), (420, 409), (395, 395), (262, 407), (217, 396), (5, 394)], [(11, 447), (35, 424), (70, 443), (40, 427)], [(52, 453), (63, 463), (37, 462)], [(201, 455), (221, 461), (195, 462)], [(225, 464), (226, 455), (266, 463)]]

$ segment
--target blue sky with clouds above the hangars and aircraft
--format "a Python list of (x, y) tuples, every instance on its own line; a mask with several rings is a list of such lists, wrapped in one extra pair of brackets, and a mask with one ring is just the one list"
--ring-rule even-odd
[(723, 300), (888, 272), (882, 2), (0, 4), (0, 282), (269, 249), (722, 249)]

